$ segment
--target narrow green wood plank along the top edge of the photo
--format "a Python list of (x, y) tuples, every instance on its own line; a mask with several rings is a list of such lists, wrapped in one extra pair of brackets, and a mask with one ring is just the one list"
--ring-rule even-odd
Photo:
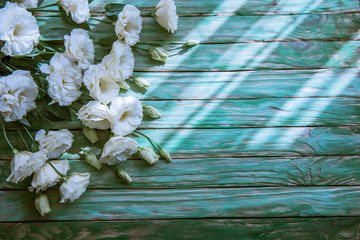
[[(222, 13), (248, 15), (248, 14), (293, 14), (314, 12), (354, 12), (359, 11), (359, 2), (356, 0), (176, 0), (177, 13), (180, 16), (191, 15), (218, 15)], [(102, 10), (108, 1), (93, 1), (91, 7), (94, 10)], [(130, 3), (141, 9), (142, 14), (150, 15), (158, 0), (132, 0), (121, 3)]]

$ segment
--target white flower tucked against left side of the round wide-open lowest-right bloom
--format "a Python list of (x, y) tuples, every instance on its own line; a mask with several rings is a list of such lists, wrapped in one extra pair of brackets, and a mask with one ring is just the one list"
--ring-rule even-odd
[(112, 115), (108, 106), (91, 101), (79, 109), (78, 119), (89, 128), (105, 130), (111, 126)]

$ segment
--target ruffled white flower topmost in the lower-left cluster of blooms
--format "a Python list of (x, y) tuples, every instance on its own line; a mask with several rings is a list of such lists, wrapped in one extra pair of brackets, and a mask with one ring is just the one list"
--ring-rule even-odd
[(35, 135), (35, 140), (39, 143), (39, 149), (48, 151), (49, 158), (57, 158), (67, 151), (74, 142), (72, 133), (67, 129), (59, 131), (39, 130)]

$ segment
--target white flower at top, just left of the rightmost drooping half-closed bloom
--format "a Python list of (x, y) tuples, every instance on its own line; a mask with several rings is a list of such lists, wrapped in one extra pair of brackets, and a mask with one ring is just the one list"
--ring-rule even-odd
[(119, 13), (115, 25), (115, 32), (119, 40), (124, 40), (127, 45), (134, 46), (140, 41), (142, 19), (140, 11), (135, 6), (126, 4)]

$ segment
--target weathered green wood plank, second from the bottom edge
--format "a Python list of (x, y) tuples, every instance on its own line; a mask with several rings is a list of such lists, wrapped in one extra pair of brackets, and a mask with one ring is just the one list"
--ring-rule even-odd
[(34, 193), (0, 191), (1, 220), (121, 220), (359, 216), (360, 187), (261, 187), (87, 190), (73, 204), (47, 191), (53, 211), (40, 217)]

